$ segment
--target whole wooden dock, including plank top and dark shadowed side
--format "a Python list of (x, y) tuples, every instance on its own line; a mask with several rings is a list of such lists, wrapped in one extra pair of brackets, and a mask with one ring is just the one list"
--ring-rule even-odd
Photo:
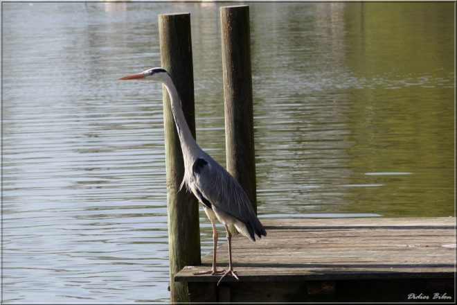
[[(192, 275), (191, 302), (451, 302), (455, 303), (456, 218), (325, 218), (262, 220), (267, 237), (233, 238), (240, 281)], [(220, 269), (227, 244), (217, 248)], [(436, 295), (438, 293), (438, 295)], [(424, 299), (429, 297), (429, 299)], [(449, 299), (450, 297), (450, 299)]]

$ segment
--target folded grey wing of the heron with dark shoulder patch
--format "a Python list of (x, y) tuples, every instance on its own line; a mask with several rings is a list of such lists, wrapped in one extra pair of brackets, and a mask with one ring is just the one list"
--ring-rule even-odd
[(253, 218), (257, 220), (240, 184), (209, 155), (205, 153), (197, 159), (192, 174), (197, 191), (211, 204), (244, 223), (253, 221)]

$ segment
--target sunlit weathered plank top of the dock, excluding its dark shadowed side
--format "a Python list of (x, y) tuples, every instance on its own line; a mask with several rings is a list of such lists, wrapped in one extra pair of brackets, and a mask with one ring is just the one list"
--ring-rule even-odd
[[(443, 245), (456, 242), (455, 218), (323, 220), (274, 220), (278, 226), (256, 243), (233, 238), (240, 281), (454, 277), (456, 248)], [(226, 268), (227, 245), (217, 252), (219, 267)], [(217, 281), (219, 277), (192, 275), (207, 269), (211, 257), (203, 257), (206, 266), (184, 268), (175, 280)]]

